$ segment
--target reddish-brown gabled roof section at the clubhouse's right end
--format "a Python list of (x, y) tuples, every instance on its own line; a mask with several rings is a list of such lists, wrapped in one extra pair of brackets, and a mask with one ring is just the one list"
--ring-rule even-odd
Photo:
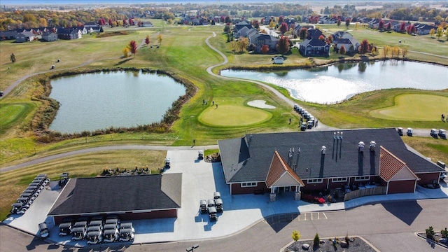
[(387, 151), (383, 146), (380, 146), (379, 162), (379, 176), (381, 176), (381, 178), (383, 178), (386, 182), (393, 180), (393, 178), (398, 173), (402, 172), (402, 170), (405, 170), (405, 172), (407, 172), (407, 174), (405, 174), (405, 176), (407, 175), (407, 179), (419, 180), (419, 177), (417, 177), (414, 172), (412, 172), (411, 169), (407, 167), (405, 162), (395, 157), (395, 155)]

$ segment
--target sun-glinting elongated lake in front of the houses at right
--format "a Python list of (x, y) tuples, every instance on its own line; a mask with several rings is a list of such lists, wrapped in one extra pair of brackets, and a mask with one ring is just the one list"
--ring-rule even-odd
[(444, 66), (394, 60), (333, 64), (315, 69), (221, 71), (222, 76), (284, 87), (291, 97), (318, 104), (334, 104), (355, 94), (388, 88), (443, 90), (448, 88), (447, 73), (448, 68)]

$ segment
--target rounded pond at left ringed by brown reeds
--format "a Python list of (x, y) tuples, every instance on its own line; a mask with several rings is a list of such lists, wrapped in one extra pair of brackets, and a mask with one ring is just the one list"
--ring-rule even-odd
[(85, 73), (51, 80), (50, 97), (62, 104), (50, 130), (82, 132), (158, 123), (186, 93), (174, 79), (155, 73)]

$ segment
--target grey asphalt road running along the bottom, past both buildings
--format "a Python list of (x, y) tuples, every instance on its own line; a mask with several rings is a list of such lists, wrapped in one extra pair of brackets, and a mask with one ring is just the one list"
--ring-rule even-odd
[[(186, 251), (193, 244), (200, 247), (195, 251), (280, 251), (292, 241), (290, 235), (298, 230), (301, 239), (312, 239), (316, 232), (321, 238), (359, 235), (367, 239), (382, 252), (447, 251), (441, 246), (431, 247), (414, 232), (424, 231), (432, 225), (441, 230), (448, 226), (448, 200), (417, 200), (407, 202), (386, 202), (367, 205), (347, 211), (328, 211), (323, 214), (301, 214), (293, 221), (276, 221), (269, 225), (260, 221), (255, 225), (218, 239), (182, 241), (163, 244), (118, 244), (87, 248), (64, 248), (45, 244), (41, 239), (27, 235), (8, 226), (0, 226), (0, 251)], [(307, 215), (307, 219), (304, 216)], [(14, 237), (10, 239), (10, 237)], [(115, 245), (115, 244), (114, 244)]]

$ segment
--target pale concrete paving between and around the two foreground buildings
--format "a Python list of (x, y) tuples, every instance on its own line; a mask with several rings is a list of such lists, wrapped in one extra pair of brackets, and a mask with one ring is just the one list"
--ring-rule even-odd
[[(278, 195), (275, 202), (269, 201), (269, 195), (230, 195), (228, 185), (225, 184), (221, 163), (209, 163), (197, 160), (197, 150), (191, 148), (188, 151), (168, 151), (167, 157), (171, 158), (172, 167), (165, 173), (179, 173), (182, 175), (182, 200), (178, 218), (149, 219), (133, 221), (136, 230), (134, 243), (155, 243), (164, 241), (185, 241), (197, 239), (211, 239), (235, 235), (242, 230), (250, 228), (255, 223), (268, 216), (279, 214), (303, 214), (314, 211), (335, 211), (351, 209), (373, 202), (387, 202), (397, 200), (421, 200), (431, 198), (448, 198), (448, 186), (442, 183), (440, 189), (426, 189), (417, 186), (416, 193), (395, 195), (375, 195), (360, 197), (348, 202), (332, 204), (309, 204), (303, 201), (295, 201), (293, 193)], [(223, 198), (223, 213), (218, 213), (218, 220), (209, 221), (207, 214), (200, 214), (199, 201), (213, 198), (215, 191), (221, 192)], [(55, 191), (48, 196), (49, 200), (55, 200)], [(41, 196), (45, 196), (41, 195)], [(45, 201), (45, 211), (52, 204)], [(37, 204), (36, 204), (37, 207)], [(48, 209), (47, 209), (48, 208)], [(45, 221), (46, 212), (34, 218), (32, 225), (25, 225), (20, 220), (31, 217), (31, 211), (24, 216), (18, 216), (11, 224), (15, 228), (25, 230), (31, 234), (36, 233), (36, 223)], [(70, 241), (71, 237), (59, 237), (57, 227), (50, 227), (49, 241), (71, 246), (85, 246), (85, 241)]]

